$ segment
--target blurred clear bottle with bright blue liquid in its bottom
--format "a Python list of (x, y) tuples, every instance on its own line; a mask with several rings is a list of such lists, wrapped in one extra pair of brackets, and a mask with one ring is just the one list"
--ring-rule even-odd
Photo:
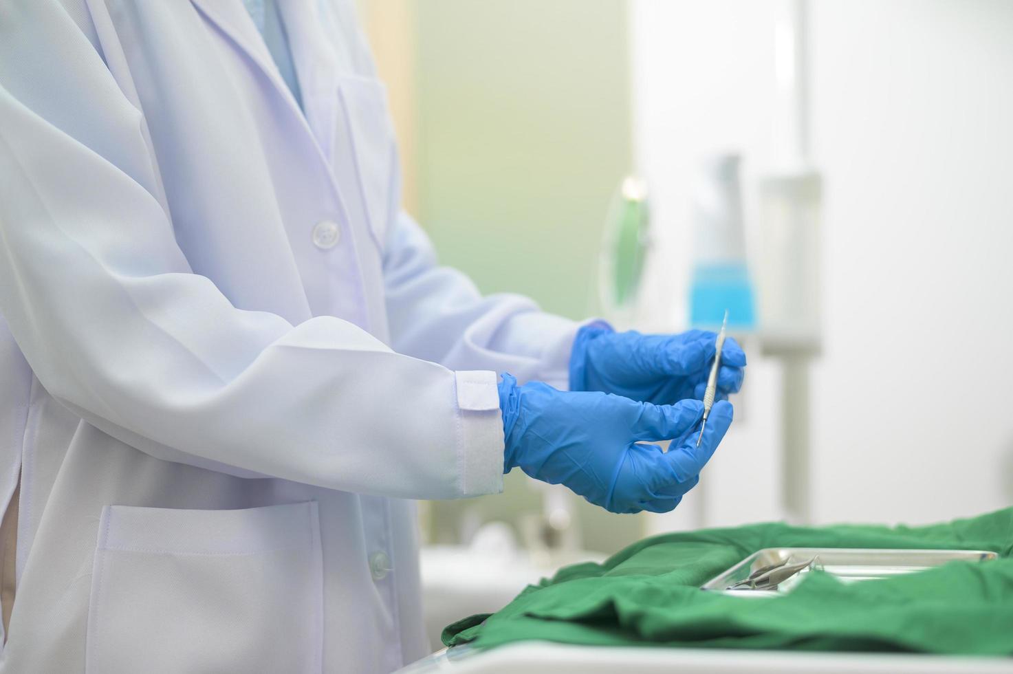
[(753, 285), (746, 261), (739, 157), (715, 154), (700, 165), (693, 185), (694, 264), (690, 324), (716, 326), (730, 309), (732, 327), (755, 327)]

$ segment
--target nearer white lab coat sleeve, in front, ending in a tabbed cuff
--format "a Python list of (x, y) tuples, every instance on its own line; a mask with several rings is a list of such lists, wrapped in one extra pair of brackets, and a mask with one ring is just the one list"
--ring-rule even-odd
[(500, 491), (494, 372), (240, 310), (192, 273), (141, 114), (59, 12), (0, 6), (0, 312), (46, 389), (158, 458), (400, 498)]

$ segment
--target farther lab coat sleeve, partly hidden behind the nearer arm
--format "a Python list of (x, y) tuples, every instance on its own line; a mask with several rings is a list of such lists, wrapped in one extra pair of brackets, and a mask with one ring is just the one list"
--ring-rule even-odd
[(388, 235), (384, 276), (399, 353), (567, 388), (570, 347), (580, 324), (544, 313), (519, 295), (483, 297), (467, 276), (437, 263), (425, 233), (403, 211)]

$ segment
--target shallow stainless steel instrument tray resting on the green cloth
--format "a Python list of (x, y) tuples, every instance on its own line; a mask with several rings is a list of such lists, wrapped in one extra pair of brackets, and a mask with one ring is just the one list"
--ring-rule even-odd
[(772, 589), (752, 589), (729, 586), (744, 581), (754, 572), (779, 564), (800, 564), (816, 557), (813, 568), (845, 583), (871, 581), (890, 576), (925, 571), (947, 561), (985, 561), (999, 555), (988, 550), (904, 550), (864, 549), (856, 547), (768, 547), (746, 557), (731, 569), (700, 586), (744, 597), (770, 597), (790, 592), (809, 570), (802, 570)]

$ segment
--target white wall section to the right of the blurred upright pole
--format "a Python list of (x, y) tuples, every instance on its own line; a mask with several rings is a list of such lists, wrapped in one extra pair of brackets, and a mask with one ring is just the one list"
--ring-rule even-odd
[(814, 9), (815, 149), (833, 180), (815, 515), (1009, 506), (1013, 3)]

